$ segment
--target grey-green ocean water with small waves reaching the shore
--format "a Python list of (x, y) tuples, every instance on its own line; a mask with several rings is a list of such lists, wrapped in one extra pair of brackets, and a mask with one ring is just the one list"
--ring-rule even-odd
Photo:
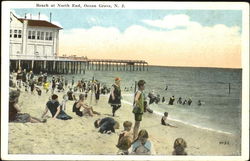
[[(199, 128), (218, 132), (241, 134), (242, 70), (221, 68), (149, 67), (148, 71), (86, 71), (85, 74), (64, 75), (71, 82), (92, 77), (112, 85), (115, 77), (120, 77), (121, 88), (132, 88), (123, 95), (124, 102), (133, 102), (135, 81), (146, 81), (146, 95), (154, 90), (164, 96), (165, 103), (153, 104), (151, 109), (169, 113), (169, 118)], [(229, 83), (231, 91), (229, 94)], [(166, 85), (168, 90), (165, 90)], [(168, 105), (169, 98), (175, 96), (175, 104)], [(179, 97), (192, 99), (191, 106), (177, 104)], [(204, 102), (198, 106), (198, 100)]]

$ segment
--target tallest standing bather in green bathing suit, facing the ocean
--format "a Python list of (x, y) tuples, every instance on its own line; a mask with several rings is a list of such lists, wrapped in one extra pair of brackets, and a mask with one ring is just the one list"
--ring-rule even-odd
[(133, 108), (133, 113), (135, 115), (135, 125), (134, 125), (134, 136), (133, 139), (137, 138), (139, 127), (140, 127), (140, 122), (142, 120), (142, 115), (144, 111), (144, 101), (145, 101), (145, 94), (143, 93), (145, 89), (145, 81), (144, 80), (139, 80), (138, 81), (138, 91), (135, 92), (134, 96), (134, 108)]

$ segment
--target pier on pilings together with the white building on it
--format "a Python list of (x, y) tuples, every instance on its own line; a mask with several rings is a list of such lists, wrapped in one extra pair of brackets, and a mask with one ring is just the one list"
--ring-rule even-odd
[[(38, 4), (40, 5), (40, 4)], [(144, 60), (88, 59), (87, 57), (59, 56), (59, 31), (63, 28), (50, 21), (18, 18), (10, 14), (10, 71), (19, 68), (33, 73), (84, 74), (95, 71), (145, 71)], [(22, 26), (22, 27), (20, 27)], [(41, 30), (43, 28), (43, 30)]]

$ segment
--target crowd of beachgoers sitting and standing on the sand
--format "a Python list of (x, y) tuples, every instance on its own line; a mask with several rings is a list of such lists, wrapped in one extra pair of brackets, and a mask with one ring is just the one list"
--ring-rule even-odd
[[(21, 72), (19, 71), (19, 73), (22, 73), (22, 72), (24, 71), (21, 71)], [(98, 118), (94, 122), (94, 127), (99, 129), (98, 132), (105, 133), (105, 134), (114, 133), (115, 129), (119, 128), (119, 122), (114, 119), (114, 116), (116, 115), (116, 111), (120, 109), (122, 106), (121, 104), (121, 99), (122, 99), (121, 78), (119, 77), (115, 78), (114, 84), (109, 89), (106, 86), (103, 86), (103, 88), (101, 88), (100, 82), (95, 79), (92, 79), (89, 82), (80, 80), (77, 82), (77, 85), (74, 86), (75, 80), (74, 78), (72, 78), (71, 85), (69, 85), (69, 82), (66, 81), (65, 78), (63, 78), (62, 76), (59, 76), (57, 78), (52, 77), (51, 88), (50, 88), (50, 82), (47, 80), (47, 74), (41, 73), (38, 76), (38, 78), (40, 79), (34, 80), (34, 75), (32, 76), (33, 78), (31, 77), (31, 74), (33, 74), (32, 71), (29, 73), (30, 73), (29, 77), (26, 81), (17, 79), (16, 82), (17, 82), (18, 90), (13, 90), (13, 89), (10, 90), (9, 122), (45, 123), (46, 119), (44, 117), (48, 113), (48, 111), (51, 113), (52, 119), (61, 119), (61, 120), (73, 119), (73, 117), (69, 116), (65, 112), (67, 108), (66, 104), (68, 100), (75, 101), (72, 107), (72, 112), (75, 113), (76, 116), (79, 116), (79, 117), (98, 116), (100, 117), (101, 114), (97, 112), (96, 110), (94, 110), (94, 107), (89, 105), (86, 102), (88, 95), (90, 93), (92, 95), (92, 92), (93, 92), (93, 94), (95, 94), (96, 104), (97, 104), (97, 101), (99, 100), (99, 96), (101, 93), (110, 94), (107, 103), (112, 107), (111, 113), (113, 116), (113, 117)], [(17, 76), (18, 76), (18, 73), (17, 73)], [(10, 84), (11, 87), (14, 87), (13, 82), (12, 84)], [(50, 100), (48, 100), (48, 102), (46, 103), (45, 110), (42, 113), (41, 119), (32, 117), (27, 113), (22, 113), (20, 106), (19, 106), (18, 100), (19, 100), (19, 96), (21, 93), (20, 89), (22, 89), (22, 83), (23, 83), (23, 87), (25, 88), (25, 91), (28, 92), (28, 90), (26, 89), (28, 89), (27, 84), (30, 84), (30, 82), (35, 82), (34, 84), (36, 85), (34, 88), (36, 88), (36, 86), (38, 86), (37, 88), (39, 88), (39, 86), (43, 86), (46, 93), (51, 89), (51, 97), (50, 97)], [(132, 110), (134, 114), (134, 121), (135, 121), (134, 126), (131, 121), (123, 122), (124, 130), (119, 134), (118, 142), (116, 145), (116, 147), (119, 149), (118, 154), (122, 154), (122, 155), (156, 154), (154, 151), (153, 143), (150, 140), (148, 131), (146, 129), (140, 129), (140, 123), (143, 119), (144, 112), (146, 111), (150, 112), (150, 109), (148, 108), (148, 104), (146, 101), (147, 97), (145, 96), (145, 93), (144, 93), (145, 84), (146, 82), (144, 80), (139, 80), (137, 82), (138, 89), (135, 91), (135, 94), (134, 94), (134, 102), (133, 102), (133, 110)], [(65, 90), (67, 89), (68, 91), (65, 92)], [(60, 101), (58, 100), (58, 95), (56, 94), (56, 92), (65, 93), (63, 95), (63, 100), (61, 103), (59, 103)], [(78, 99), (76, 98), (76, 94), (74, 94), (75, 92), (79, 92)], [(168, 113), (165, 112), (164, 116), (161, 119), (161, 125), (176, 127), (167, 122), (167, 117), (168, 117)], [(132, 130), (132, 127), (133, 127), (133, 130)], [(174, 142), (173, 154), (174, 155), (187, 155), (187, 153), (185, 152), (186, 147), (187, 147), (187, 144), (185, 140), (182, 138), (177, 138)]]

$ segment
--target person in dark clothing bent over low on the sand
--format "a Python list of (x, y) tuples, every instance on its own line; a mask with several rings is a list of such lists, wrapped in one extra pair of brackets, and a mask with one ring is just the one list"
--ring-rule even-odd
[(97, 119), (94, 122), (94, 126), (95, 126), (95, 128), (100, 127), (98, 132), (100, 132), (102, 134), (104, 134), (104, 133), (111, 134), (111, 132), (115, 133), (115, 129), (119, 129), (119, 123), (111, 117)]

